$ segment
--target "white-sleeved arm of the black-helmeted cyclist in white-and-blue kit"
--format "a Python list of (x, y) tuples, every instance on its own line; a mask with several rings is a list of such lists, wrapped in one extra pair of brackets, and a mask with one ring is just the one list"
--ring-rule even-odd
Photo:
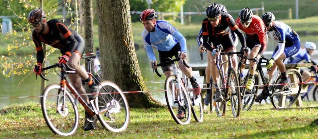
[(276, 51), (276, 53), (272, 56), (272, 58), (274, 60), (277, 60), (281, 54), (284, 53), (284, 49), (285, 49), (285, 34), (286, 31), (284, 28), (275, 28), (273, 27), (274, 30), (277, 30), (276, 33), (278, 33), (278, 50)]

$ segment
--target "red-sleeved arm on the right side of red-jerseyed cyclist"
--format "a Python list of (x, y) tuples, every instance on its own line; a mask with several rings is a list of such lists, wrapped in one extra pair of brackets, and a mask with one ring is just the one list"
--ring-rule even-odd
[(266, 34), (265, 34), (265, 25), (262, 22), (259, 22), (256, 20), (254, 26), (257, 29), (257, 35), (259, 37), (259, 42), (260, 42), (260, 49), (259, 49), (259, 54), (263, 54), (266, 50)]

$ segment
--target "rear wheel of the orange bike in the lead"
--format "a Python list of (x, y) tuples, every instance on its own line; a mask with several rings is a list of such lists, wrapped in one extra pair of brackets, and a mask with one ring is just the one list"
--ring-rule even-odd
[(99, 87), (101, 95), (95, 100), (97, 111), (110, 108), (107, 112), (97, 115), (101, 125), (112, 132), (126, 130), (130, 114), (125, 95), (116, 84), (110, 81), (101, 82)]

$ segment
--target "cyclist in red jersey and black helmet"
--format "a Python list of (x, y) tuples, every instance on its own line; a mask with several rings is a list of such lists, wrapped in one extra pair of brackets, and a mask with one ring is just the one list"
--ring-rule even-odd
[[(251, 90), (254, 87), (254, 73), (256, 65), (259, 61), (260, 56), (266, 49), (268, 36), (265, 34), (266, 27), (264, 22), (259, 16), (253, 15), (252, 10), (248, 7), (242, 9), (239, 13), (239, 17), (236, 20), (236, 24), (239, 29), (245, 32), (246, 46), (251, 49), (249, 54), (250, 60), (250, 74), (246, 84), (246, 89)], [(246, 51), (247, 47), (242, 47), (241, 51)], [(245, 55), (247, 55), (245, 53)], [(245, 61), (245, 59), (241, 59)], [(241, 64), (241, 73), (245, 69), (245, 65)]]

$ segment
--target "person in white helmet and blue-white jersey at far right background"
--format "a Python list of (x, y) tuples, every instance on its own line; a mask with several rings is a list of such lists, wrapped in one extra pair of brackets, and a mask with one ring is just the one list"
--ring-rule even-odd
[[(305, 48), (300, 49), (297, 54), (294, 54), (292, 57), (285, 60), (287, 64), (294, 63), (313, 63), (317, 65), (315, 61), (311, 59), (311, 56), (314, 54), (317, 46), (313, 42), (305, 42)], [(308, 67), (309, 68), (309, 67)], [(311, 71), (316, 71), (314, 66), (310, 66)], [(300, 73), (304, 82), (307, 82), (311, 76), (311, 73), (308, 70), (300, 69)]]

